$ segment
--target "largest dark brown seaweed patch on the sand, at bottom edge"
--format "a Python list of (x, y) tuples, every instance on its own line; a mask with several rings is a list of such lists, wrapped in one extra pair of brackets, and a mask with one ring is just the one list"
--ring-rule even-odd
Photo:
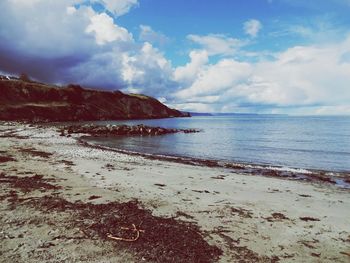
[(115, 242), (119, 248), (128, 248), (141, 258), (152, 262), (213, 262), (222, 251), (209, 245), (197, 225), (153, 216), (140, 207), (138, 201), (106, 204), (71, 203), (59, 197), (46, 196), (31, 199), (27, 205), (47, 212), (71, 212), (78, 226), (88, 238), (111, 240), (113, 236), (133, 239), (135, 233), (127, 230), (137, 225), (140, 238), (135, 242)]

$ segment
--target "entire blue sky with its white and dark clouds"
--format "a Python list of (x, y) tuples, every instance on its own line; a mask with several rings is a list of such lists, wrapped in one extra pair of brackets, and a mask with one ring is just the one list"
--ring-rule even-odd
[(350, 0), (1, 0), (0, 72), (199, 112), (350, 114)]

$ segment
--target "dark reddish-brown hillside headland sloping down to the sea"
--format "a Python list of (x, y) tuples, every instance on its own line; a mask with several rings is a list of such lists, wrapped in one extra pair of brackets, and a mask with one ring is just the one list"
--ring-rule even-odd
[(90, 121), (188, 116), (145, 95), (0, 78), (0, 120)]

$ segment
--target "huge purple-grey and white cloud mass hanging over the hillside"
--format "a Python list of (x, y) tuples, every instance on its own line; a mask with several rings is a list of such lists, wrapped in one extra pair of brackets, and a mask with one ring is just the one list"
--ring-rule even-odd
[[(96, 1), (1, 1), (0, 70), (49, 83), (166, 92), (171, 69), (162, 55), (150, 44), (136, 43), (90, 2)], [(113, 12), (126, 12), (137, 3), (107, 2), (101, 3)]]

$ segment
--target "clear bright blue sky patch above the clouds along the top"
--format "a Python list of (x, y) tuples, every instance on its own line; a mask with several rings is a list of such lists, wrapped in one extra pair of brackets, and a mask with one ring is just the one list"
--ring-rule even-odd
[[(245, 47), (247, 50), (283, 51), (295, 45), (327, 40), (330, 35), (334, 41), (342, 39), (349, 30), (350, 2), (311, 2), (312, 4), (302, 0), (144, 0), (128, 14), (116, 18), (116, 22), (128, 28), (135, 36), (140, 33), (140, 24), (149, 25), (164, 34), (169, 42), (162, 46), (162, 50), (175, 66), (179, 66), (188, 60), (188, 50), (194, 47), (186, 36), (224, 34), (249, 39), (242, 26), (249, 19), (259, 20), (263, 28), (259, 32), (259, 38)], [(316, 34), (321, 36), (316, 37)], [(320, 39), (322, 37), (324, 39)]]

